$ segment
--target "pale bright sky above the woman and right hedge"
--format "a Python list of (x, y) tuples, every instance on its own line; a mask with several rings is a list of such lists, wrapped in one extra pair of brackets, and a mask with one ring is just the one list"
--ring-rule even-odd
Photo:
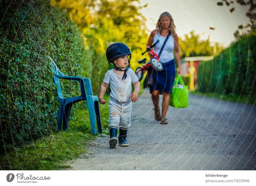
[[(140, 12), (146, 17), (149, 30), (156, 28), (156, 22), (161, 13), (169, 12), (173, 17), (179, 37), (195, 30), (196, 34), (203, 34), (202, 39), (210, 35), (210, 42), (220, 42), (227, 47), (235, 40), (233, 33), (237, 26), (249, 22), (245, 16), (248, 8), (240, 4), (218, 6), (219, 1), (140, 0), (140, 5), (148, 4), (148, 7), (142, 8)], [(235, 7), (235, 11), (230, 13), (229, 9), (232, 7)], [(209, 27), (215, 27), (215, 30), (210, 30)]]

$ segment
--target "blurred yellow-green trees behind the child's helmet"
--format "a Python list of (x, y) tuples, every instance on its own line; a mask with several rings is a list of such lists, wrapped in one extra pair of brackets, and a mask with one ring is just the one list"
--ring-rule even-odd
[[(136, 0), (139, 2), (139, 0)], [(139, 65), (137, 61), (144, 56), (148, 34), (146, 19), (139, 12), (141, 7), (134, 6), (133, 0), (92, 1), (92, 0), (52, 0), (53, 6), (66, 10), (70, 18), (83, 31), (84, 44), (89, 56), (85, 64), (91, 64), (93, 93), (99, 93), (99, 86), (108, 69), (106, 49), (115, 42), (126, 43), (132, 51), (131, 67)], [(148, 57), (148, 56), (147, 56)], [(84, 69), (87, 70), (88, 68)]]

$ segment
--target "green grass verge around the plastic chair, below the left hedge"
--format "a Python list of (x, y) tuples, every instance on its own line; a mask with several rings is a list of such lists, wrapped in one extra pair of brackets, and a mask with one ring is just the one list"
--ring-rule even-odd
[[(100, 105), (102, 133), (108, 132), (108, 96), (105, 105)], [(101, 135), (98, 135), (101, 136)], [(1, 170), (60, 170), (70, 167), (69, 160), (79, 158), (86, 152), (88, 142), (95, 139), (91, 133), (89, 112), (86, 102), (72, 106), (68, 131), (44, 136), (30, 144), (6, 150), (0, 155)]]

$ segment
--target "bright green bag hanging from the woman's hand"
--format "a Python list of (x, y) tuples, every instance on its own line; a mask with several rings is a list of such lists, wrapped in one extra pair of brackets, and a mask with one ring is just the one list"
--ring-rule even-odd
[(180, 74), (175, 78), (170, 95), (170, 105), (176, 108), (188, 107), (188, 86), (184, 84)]

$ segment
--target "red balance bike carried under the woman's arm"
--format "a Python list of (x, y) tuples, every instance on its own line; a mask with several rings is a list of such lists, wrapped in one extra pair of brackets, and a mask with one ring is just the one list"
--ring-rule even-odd
[[(158, 43), (159, 40), (156, 41), (156, 43)], [(138, 67), (135, 71), (135, 74), (137, 76), (137, 78), (139, 79), (139, 81), (142, 80), (143, 78), (143, 74), (150, 68), (154, 68), (157, 71), (162, 71), (164, 66), (162, 65), (162, 63), (159, 62), (159, 57), (157, 54), (155, 54), (153, 47), (156, 45), (156, 43), (154, 43), (153, 45), (151, 45), (150, 47), (147, 47), (147, 50), (145, 52), (143, 52), (141, 55), (144, 55), (146, 52), (148, 52), (150, 50), (150, 52), (153, 54), (153, 56), (150, 58), (149, 62), (145, 65), (146, 63), (146, 59), (141, 59), (138, 61), (138, 63), (142, 63), (142, 67)]]

